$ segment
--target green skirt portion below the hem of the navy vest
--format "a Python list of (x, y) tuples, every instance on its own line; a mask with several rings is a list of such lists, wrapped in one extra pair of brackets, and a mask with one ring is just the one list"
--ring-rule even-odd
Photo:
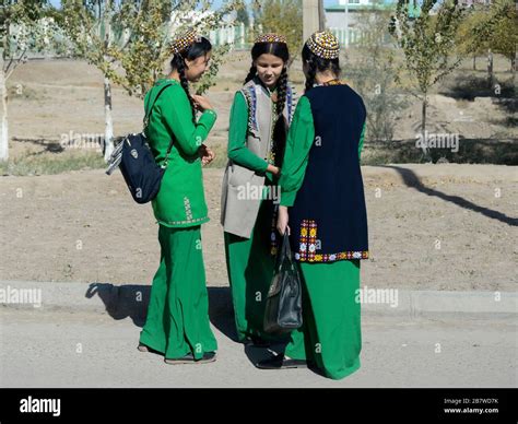
[(299, 262), (299, 270), (304, 323), (291, 333), (284, 354), (313, 363), (329, 378), (344, 378), (360, 368), (360, 260)]

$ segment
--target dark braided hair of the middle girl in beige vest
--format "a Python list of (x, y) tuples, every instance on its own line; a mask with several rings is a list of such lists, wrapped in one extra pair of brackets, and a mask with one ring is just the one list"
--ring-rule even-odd
[(276, 82), (278, 120), (275, 122), (275, 127), (273, 128), (273, 153), (275, 154), (275, 166), (280, 166), (284, 155), (287, 132), (287, 122), (283, 116), (287, 94), (287, 62), (290, 61), (290, 50), (287, 45), (285, 43), (256, 43), (251, 48), (252, 63), (250, 70), (248, 71), (248, 75), (245, 79), (245, 84), (257, 75), (257, 67), (255, 61), (259, 59), (261, 55), (267, 54), (276, 56), (284, 62), (281, 75)]

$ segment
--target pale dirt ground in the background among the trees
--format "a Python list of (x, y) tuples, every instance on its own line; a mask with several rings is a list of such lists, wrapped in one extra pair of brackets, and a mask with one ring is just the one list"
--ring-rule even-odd
[[(224, 156), (228, 131), (228, 115), (234, 93), (239, 90), (250, 66), (248, 52), (235, 51), (223, 64), (216, 85), (207, 96), (219, 118), (208, 142)], [(491, 97), (472, 101), (454, 98), (439, 92), (463, 74), (472, 75), (467, 61), (444, 86), (429, 95), (427, 130), (436, 133), (458, 133), (467, 140), (518, 141), (516, 110), (503, 108)], [(479, 66), (479, 76), (484, 76)], [(507, 62), (496, 61), (496, 76), (508, 81)], [(298, 94), (303, 92), (299, 61), (292, 66), (290, 78)], [(343, 79), (348, 80), (346, 63)], [(62, 153), (61, 140), (104, 137), (103, 76), (94, 67), (78, 60), (34, 60), (19, 67), (9, 80), (9, 122), (12, 137), (10, 154), (34, 156), (42, 153)], [(354, 85), (353, 85), (354, 87)], [(421, 103), (409, 96), (409, 105), (397, 117), (395, 140), (415, 140), (421, 125)], [(118, 86), (113, 89), (114, 132), (122, 136), (142, 128), (142, 101), (130, 97)], [(365, 145), (363, 160), (368, 162), (370, 150)], [(219, 162), (223, 166), (223, 162)]]

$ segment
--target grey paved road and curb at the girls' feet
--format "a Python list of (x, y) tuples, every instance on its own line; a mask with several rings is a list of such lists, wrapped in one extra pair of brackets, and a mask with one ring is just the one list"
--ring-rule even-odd
[[(400, 294), (413, 301), (408, 307), (363, 305), (362, 368), (333, 381), (309, 369), (257, 369), (252, 364), (268, 352), (233, 341), (227, 287), (209, 287), (217, 361), (170, 366), (136, 349), (145, 286), (3, 282), (0, 290), (5, 295), (8, 286), (31, 284), (43, 291), (40, 307), (0, 305), (0, 387), (518, 386), (516, 294), (501, 294), (499, 313), (483, 293), (463, 296), (457, 313), (451, 296), (442, 299), (440, 293)], [(476, 314), (480, 302), (493, 306)]]

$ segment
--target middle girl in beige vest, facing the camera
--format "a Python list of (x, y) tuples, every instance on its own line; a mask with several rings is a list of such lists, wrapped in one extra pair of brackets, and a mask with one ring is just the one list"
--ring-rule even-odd
[(251, 59), (231, 110), (221, 223), (238, 341), (264, 345), (270, 338), (262, 330), (264, 303), (276, 254), (276, 180), (294, 92), (284, 36), (258, 37)]

